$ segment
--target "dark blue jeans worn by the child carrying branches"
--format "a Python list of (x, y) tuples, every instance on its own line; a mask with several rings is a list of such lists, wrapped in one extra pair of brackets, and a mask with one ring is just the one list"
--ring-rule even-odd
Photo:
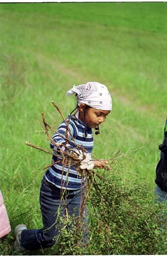
[[(43, 178), (39, 197), (43, 228), (23, 230), (21, 232), (21, 246), (26, 248), (26, 250), (37, 250), (53, 246), (55, 244), (55, 236), (60, 233), (60, 229), (57, 227), (59, 226), (59, 218), (57, 218), (59, 217), (59, 211), (60, 216), (65, 216), (65, 211), (67, 211), (68, 215), (74, 215), (75, 219), (77, 219), (84, 195), (83, 188), (77, 191), (68, 190), (67, 197), (60, 199), (59, 188), (49, 184)], [(88, 227), (88, 213), (86, 208), (83, 215), (83, 222)], [(86, 241), (87, 233), (85, 232), (83, 236), (85, 236)]]

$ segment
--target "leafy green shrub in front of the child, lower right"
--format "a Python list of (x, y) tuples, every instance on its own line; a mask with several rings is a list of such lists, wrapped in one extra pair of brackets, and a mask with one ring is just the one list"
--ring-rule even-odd
[(123, 183), (118, 171), (103, 173), (99, 183), (100, 197), (93, 189), (89, 201), (93, 253), (165, 254), (166, 231), (160, 229), (163, 218), (150, 186), (143, 181)]

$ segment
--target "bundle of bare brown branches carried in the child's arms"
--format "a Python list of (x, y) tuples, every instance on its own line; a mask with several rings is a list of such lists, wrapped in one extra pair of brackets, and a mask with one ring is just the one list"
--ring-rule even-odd
[[(55, 132), (55, 133), (59, 134), (59, 136), (61, 136), (63, 139), (64, 139), (64, 135), (60, 134), (56, 129), (54, 129), (52, 126), (50, 126), (45, 120), (45, 114), (42, 113), (42, 121), (43, 121), (43, 125), (44, 125), (44, 128), (45, 128), (44, 132), (47, 135), (50, 143), (52, 143), (52, 145), (55, 146), (54, 150), (52, 152), (50, 152), (49, 150), (40, 148), (39, 146), (36, 146), (36, 145), (32, 145), (31, 143), (26, 142), (26, 144), (28, 146), (31, 146), (32, 148), (42, 150), (45, 153), (56, 156), (56, 159), (58, 159), (58, 160), (56, 160), (56, 162), (53, 162), (49, 166), (44, 167), (43, 169), (48, 169), (49, 167), (55, 165), (56, 163), (61, 162), (61, 164), (63, 166), (63, 169), (65, 167), (66, 167), (66, 169), (68, 169), (66, 171), (66, 173), (67, 173), (66, 174), (67, 182), (68, 182), (68, 173), (69, 173), (70, 167), (75, 166), (78, 175), (81, 177), (81, 186), (83, 185), (83, 183), (85, 183), (85, 197), (82, 200), (82, 204), (80, 205), (79, 218), (78, 218), (78, 221), (77, 221), (77, 227), (80, 227), (82, 229), (81, 219), (83, 217), (83, 212), (84, 212), (84, 209), (85, 209), (86, 201), (89, 197), (89, 192), (90, 192), (90, 187), (91, 186), (93, 186), (93, 188), (96, 190), (97, 197), (99, 197), (100, 201), (103, 204), (107, 204), (107, 201), (104, 200), (104, 198), (103, 198), (103, 194), (101, 194), (100, 185), (99, 185), (99, 180), (102, 181), (102, 180), (105, 180), (105, 178), (104, 178), (103, 174), (100, 175), (95, 170), (90, 171), (90, 170), (87, 170), (87, 169), (84, 169), (84, 170), (80, 169), (81, 160), (78, 159), (76, 154), (74, 155), (74, 153), (71, 153), (71, 148), (68, 146), (69, 145), (68, 142), (72, 143), (72, 145), (73, 145), (72, 152), (74, 152), (74, 151), (77, 152), (77, 149), (78, 149), (78, 150), (80, 150), (80, 152), (82, 151), (83, 157), (84, 157), (84, 153), (88, 153), (88, 152), (86, 152), (86, 150), (83, 148), (83, 146), (79, 146), (74, 141), (74, 138), (73, 138), (73, 136), (70, 132), (70, 128), (68, 127), (69, 123), (70, 123), (70, 118), (68, 120), (66, 120), (64, 118), (63, 113), (60, 111), (60, 108), (56, 106), (54, 101), (52, 101), (52, 104), (53, 104), (53, 106), (56, 107), (56, 110), (60, 113), (61, 117), (63, 118), (64, 123), (66, 124), (65, 143), (63, 143), (63, 145), (62, 145), (61, 143), (57, 143), (52, 139), (52, 136), (50, 135), (50, 132)], [(70, 134), (70, 139), (69, 139), (69, 136), (68, 136), (69, 134)], [(118, 159), (119, 157), (122, 157), (122, 156), (118, 156), (118, 157), (115, 157), (115, 158), (112, 158), (112, 159), (107, 159), (108, 161), (111, 161), (111, 162), (110, 162), (110, 164), (107, 164), (106, 167), (104, 167), (104, 170), (110, 171), (112, 162), (115, 159)], [(96, 157), (93, 157), (93, 159), (100, 161)], [(63, 176), (63, 170), (62, 170), (62, 176)], [(106, 181), (105, 181), (105, 183), (106, 183)], [(63, 183), (62, 183), (62, 185), (63, 185)], [(66, 195), (67, 195), (66, 192), (67, 192), (66, 190), (61, 190), (61, 200), (64, 200), (64, 198), (66, 199)], [(65, 197), (64, 197), (64, 195), (65, 195)], [(106, 205), (106, 207), (108, 208), (108, 204)], [(68, 212), (67, 212), (66, 218), (67, 217), (68, 217)], [(59, 218), (59, 219), (61, 219), (61, 218)], [(59, 225), (59, 227), (61, 228), (61, 225)]]

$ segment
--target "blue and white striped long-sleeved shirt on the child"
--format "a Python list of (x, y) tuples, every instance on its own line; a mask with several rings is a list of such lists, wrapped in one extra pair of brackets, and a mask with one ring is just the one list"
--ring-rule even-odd
[[(69, 121), (69, 117), (70, 115), (68, 115), (66, 123)], [(66, 128), (66, 123), (64, 121), (61, 122), (57, 129), (57, 132), (53, 135), (52, 140), (57, 143), (61, 143), (60, 149), (68, 153), (69, 149), (75, 149), (75, 143), (77, 143), (78, 146), (83, 146), (83, 148), (87, 152), (92, 153), (92, 128), (86, 127), (88, 135), (85, 137), (85, 124), (83, 124), (81, 120), (75, 117), (75, 115), (73, 115), (68, 122), (68, 132)], [(66, 136), (69, 139), (68, 141), (66, 139)], [(64, 146), (63, 143), (66, 143), (66, 146)], [(52, 142), (50, 143), (50, 148), (55, 150), (54, 153), (56, 155), (52, 157), (52, 163), (55, 163), (56, 161), (62, 159), (60, 158), (59, 152), (57, 153), (57, 150), (59, 150), (58, 147), (59, 145), (55, 146)], [(68, 163), (66, 166), (64, 166), (64, 164), (62, 164), (62, 161), (49, 167), (49, 169), (45, 173), (45, 178), (49, 183), (52, 183), (56, 187), (67, 190), (78, 190), (79, 188), (84, 187), (85, 184), (85, 178), (82, 178), (79, 175), (74, 164), (71, 164), (71, 166), (68, 167)]]

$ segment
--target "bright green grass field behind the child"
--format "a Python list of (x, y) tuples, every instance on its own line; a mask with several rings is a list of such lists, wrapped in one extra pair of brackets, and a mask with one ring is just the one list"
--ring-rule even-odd
[[(0, 5), (0, 188), (12, 229), (26, 220), (41, 225), (38, 194), (50, 156), (41, 113), (55, 128), (75, 107), (72, 85), (108, 86), (113, 108), (93, 155), (110, 159), (120, 150), (121, 177), (146, 183), (154, 194), (166, 118), (167, 5), (130, 3), (10, 3)], [(13, 232), (0, 254), (16, 254)]]

